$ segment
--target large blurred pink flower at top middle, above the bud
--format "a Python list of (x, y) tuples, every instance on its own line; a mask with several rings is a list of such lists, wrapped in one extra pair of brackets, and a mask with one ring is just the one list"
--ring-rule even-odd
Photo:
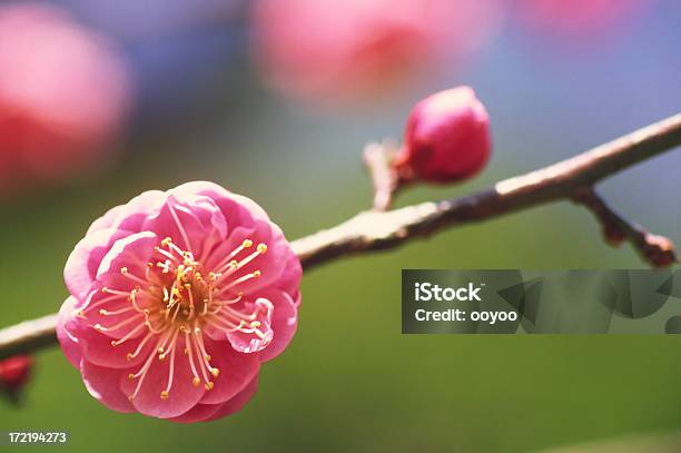
[(375, 99), (475, 50), (497, 18), (495, 0), (258, 0), (254, 53), (289, 96)]

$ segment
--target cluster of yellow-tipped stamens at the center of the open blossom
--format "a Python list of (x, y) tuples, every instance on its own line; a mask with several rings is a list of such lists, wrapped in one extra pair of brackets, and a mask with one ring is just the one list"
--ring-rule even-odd
[[(184, 233), (182, 229), (180, 232)], [(188, 245), (186, 235), (182, 236)], [(244, 296), (238, 286), (260, 276), (260, 270), (246, 274), (240, 270), (267, 252), (265, 244), (259, 244), (250, 252), (253, 245), (253, 240), (244, 240), (206, 274), (201, 263), (195, 259), (190, 250), (180, 248), (167, 237), (155, 247), (152, 258), (146, 264), (142, 275), (136, 275), (128, 267), (120, 269), (125, 278), (134, 282), (134, 289), (105, 287), (101, 290), (107, 296), (78, 313), (87, 318), (87, 313), (95, 308), (127, 301), (122, 308), (116, 311), (99, 309), (101, 317), (116, 316), (117, 321), (120, 319), (118, 323), (95, 324), (92, 327), (98, 332), (120, 334), (119, 339), (111, 341), (112, 347), (118, 347), (146, 331), (137, 348), (126, 355), (129, 361), (139, 356), (149, 342), (155, 342), (139, 371), (128, 375), (130, 380), (138, 381), (135, 392), (129, 395), (130, 400), (139, 393), (155, 357), (161, 362), (168, 361), (168, 382), (160, 392), (160, 397), (169, 398), (176, 349), (178, 343), (181, 343), (180, 339), (185, 346), (182, 353), (187, 356), (186, 366), (191, 370), (191, 383), (198, 386), (203, 382), (206, 390), (211, 390), (211, 378), (219, 375), (219, 370), (210, 365), (211, 357), (204, 342), (206, 327), (224, 334), (240, 332), (256, 335), (260, 339), (266, 337), (257, 318), (267, 307), (258, 302), (251, 304), (250, 309), (244, 308), (244, 304), (237, 305)]]

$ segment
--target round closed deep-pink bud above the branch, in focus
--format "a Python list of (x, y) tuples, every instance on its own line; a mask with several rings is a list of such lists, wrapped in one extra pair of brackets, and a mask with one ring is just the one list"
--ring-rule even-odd
[(477, 174), (490, 158), (490, 117), (470, 87), (416, 104), (395, 159), (402, 180), (452, 183)]

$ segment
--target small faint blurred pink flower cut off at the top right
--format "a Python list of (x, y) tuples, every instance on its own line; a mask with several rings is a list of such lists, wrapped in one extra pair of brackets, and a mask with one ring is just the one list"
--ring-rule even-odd
[(511, 2), (530, 27), (550, 35), (585, 40), (612, 28), (626, 28), (628, 19), (650, 0), (520, 0)]

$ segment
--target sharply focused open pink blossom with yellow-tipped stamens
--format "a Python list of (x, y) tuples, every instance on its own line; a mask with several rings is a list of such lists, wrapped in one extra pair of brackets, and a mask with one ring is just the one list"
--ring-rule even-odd
[(92, 396), (177, 422), (240, 410), (297, 326), (300, 263), (253, 200), (210, 183), (96, 220), (65, 269), (58, 336)]

